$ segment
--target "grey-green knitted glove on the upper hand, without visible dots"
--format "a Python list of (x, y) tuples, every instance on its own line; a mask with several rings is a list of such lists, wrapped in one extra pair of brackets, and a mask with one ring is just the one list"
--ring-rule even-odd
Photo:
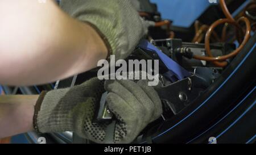
[(60, 7), (73, 18), (89, 23), (105, 41), (109, 55), (117, 59), (131, 54), (149, 26), (130, 0), (62, 0)]

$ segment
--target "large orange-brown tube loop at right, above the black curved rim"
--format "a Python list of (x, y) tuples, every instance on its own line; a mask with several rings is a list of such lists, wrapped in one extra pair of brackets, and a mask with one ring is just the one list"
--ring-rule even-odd
[[(241, 21), (245, 22), (245, 24), (246, 24), (246, 33), (245, 33), (245, 37), (244, 37), (240, 47), (238, 47), (235, 51), (233, 51), (232, 53), (229, 53), (228, 55), (213, 57), (212, 52), (210, 52), (210, 41), (209, 41), (209, 39), (210, 39), (210, 35), (212, 35), (212, 31), (214, 30), (214, 28), (216, 28), (218, 25), (224, 24), (224, 23), (233, 24), (234, 26), (237, 27), (237, 24)], [(219, 66), (219, 67), (224, 67), (228, 64), (227, 62), (217, 62), (217, 61), (223, 61), (223, 60), (226, 60), (228, 58), (236, 56), (237, 53), (242, 50), (242, 48), (245, 46), (247, 41), (250, 39), (250, 31), (251, 31), (250, 22), (245, 17), (241, 17), (240, 19), (238, 19), (237, 22), (234, 22), (230, 19), (217, 20), (216, 22), (214, 22), (212, 24), (212, 26), (209, 27), (209, 30), (207, 31), (207, 35), (205, 36), (205, 50), (206, 50), (207, 55), (209, 57), (194, 55), (193, 58), (196, 58), (196, 59), (199, 59), (199, 60), (205, 60), (205, 61), (213, 61), (214, 65)]]

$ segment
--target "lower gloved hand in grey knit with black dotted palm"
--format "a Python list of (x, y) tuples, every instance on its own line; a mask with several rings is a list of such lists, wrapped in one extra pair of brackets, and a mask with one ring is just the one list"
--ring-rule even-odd
[(42, 93), (35, 107), (34, 128), (43, 133), (74, 131), (96, 143), (109, 143), (105, 139), (109, 124), (93, 123), (101, 95), (108, 91), (107, 105), (116, 121), (113, 143), (131, 143), (162, 114), (158, 94), (147, 84), (146, 80), (108, 80), (104, 85), (92, 78), (79, 86)]

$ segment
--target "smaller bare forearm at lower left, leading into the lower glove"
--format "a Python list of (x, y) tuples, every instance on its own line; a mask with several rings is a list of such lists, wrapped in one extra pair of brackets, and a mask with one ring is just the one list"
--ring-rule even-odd
[(0, 96), (0, 139), (32, 131), (37, 99), (38, 95)]

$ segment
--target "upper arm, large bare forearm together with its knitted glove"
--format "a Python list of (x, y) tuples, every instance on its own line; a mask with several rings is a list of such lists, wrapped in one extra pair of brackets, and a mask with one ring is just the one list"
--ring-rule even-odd
[[(9, 6), (5, 6), (8, 3)], [(145, 23), (129, 0), (61, 1), (61, 8), (72, 18), (53, 1), (42, 4), (25, 0), (19, 3), (18, 6), (13, 1), (1, 1), (0, 15), (5, 24), (0, 26), (0, 32), (4, 34), (0, 36), (0, 55), (3, 56), (0, 83), (46, 83), (90, 70), (107, 55), (126, 58), (147, 32)], [(8, 7), (11, 15), (6, 14), (10, 12), (5, 9)], [(17, 14), (20, 14), (19, 18)], [(27, 16), (31, 18), (27, 19)], [(92, 27), (94, 31), (90, 30)], [(10, 29), (14, 33), (5, 31)], [(12, 35), (15, 37), (10, 37)], [(10, 48), (10, 43), (17, 42), (20, 43)]]

